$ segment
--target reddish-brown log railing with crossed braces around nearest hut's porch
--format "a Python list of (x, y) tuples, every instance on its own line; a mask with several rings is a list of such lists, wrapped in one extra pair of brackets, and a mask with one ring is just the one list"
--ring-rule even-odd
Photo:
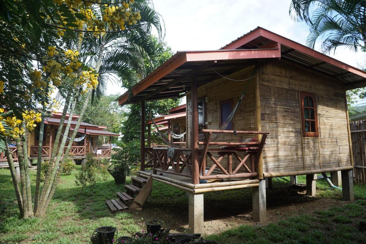
[[(233, 131), (233, 130), (209, 130), (203, 129), (205, 134), (204, 142), (197, 142), (198, 145), (203, 146), (199, 149), (199, 162), (196, 172), (199, 174), (199, 180), (209, 179), (225, 179), (225, 178), (252, 178), (258, 176), (257, 168), (259, 158), (264, 147), (267, 134), (269, 132), (258, 131)], [(213, 142), (210, 141), (213, 133), (222, 134), (242, 134), (242, 135), (261, 135), (260, 141), (256, 142)], [(220, 146), (238, 146), (247, 145), (245, 151), (236, 149), (235, 147), (229, 149), (220, 149)], [(216, 146), (216, 147), (215, 147)], [(213, 148), (215, 147), (215, 148)], [(152, 156), (152, 160), (147, 160), (145, 168), (153, 162), (153, 173), (157, 171), (182, 175), (185, 177), (192, 177), (192, 163), (191, 163), (191, 148), (175, 148), (172, 155), (168, 155), (168, 148), (156, 147), (145, 148), (145, 152)], [(243, 153), (243, 156), (239, 154)], [(217, 154), (217, 158), (213, 156)], [(239, 160), (239, 163), (233, 167), (233, 156)], [(227, 165), (224, 166), (220, 162), (227, 158)], [(212, 165), (207, 167), (207, 160), (212, 161)], [(184, 170), (187, 169), (187, 170)]]

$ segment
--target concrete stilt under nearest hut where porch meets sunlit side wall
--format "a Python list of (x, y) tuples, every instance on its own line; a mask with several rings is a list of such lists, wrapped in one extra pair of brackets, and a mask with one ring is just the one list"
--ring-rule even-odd
[(266, 181), (260, 180), (259, 186), (253, 187), (253, 221), (264, 223), (267, 220)]

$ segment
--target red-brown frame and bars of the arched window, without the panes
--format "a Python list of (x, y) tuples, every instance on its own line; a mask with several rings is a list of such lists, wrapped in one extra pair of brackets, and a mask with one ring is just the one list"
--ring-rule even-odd
[[(305, 97), (310, 97), (313, 99), (313, 107), (305, 107), (304, 106), (304, 100)], [(302, 137), (319, 137), (319, 127), (318, 127), (318, 109), (317, 109), (317, 96), (315, 93), (312, 92), (303, 92), (300, 91), (300, 109), (301, 109), (301, 129), (302, 129)], [(314, 120), (310, 119), (310, 113), (309, 113), (309, 119), (305, 120), (305, 108), (314, 108)], [(315, 132), (307, 132), (305, 131), (305, 121), (315, 121)], [(311, 122), (309, 124), (311, 129)]]

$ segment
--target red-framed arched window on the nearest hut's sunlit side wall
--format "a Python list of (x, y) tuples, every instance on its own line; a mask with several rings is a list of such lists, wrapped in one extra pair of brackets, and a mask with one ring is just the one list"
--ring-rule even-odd
[(318, 137), (317, 100), (314, 93), (300, 92), (303, 137)]

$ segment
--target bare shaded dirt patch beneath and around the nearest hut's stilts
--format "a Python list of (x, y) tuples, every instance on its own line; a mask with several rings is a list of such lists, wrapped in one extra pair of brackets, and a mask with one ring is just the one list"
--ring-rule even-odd
[[(323, 210), (333, 206), (342, 206), (347, 202), (341, 200), (306, 196), (305, 188), (290, 186), (287, 189), (267, 189), (267, 222), (275, 222), (283, 218), (300, 214), (312, 214), (315, 210)], [(206, 196), (206, 195), (205, 195)], [(234, 226), (262, 225), (252, 220), (251, 198), (235, 199), (205, 199), (204, 229), (205, 235), (219, 233)], [(143, 211), (134, 212), (141, 229), (145, 228), (147, 219), (161, 219), (164, 227), (170, 227), (171, 232), (182, 233), (188, 229), (188, 199), (185, 206), (150, 206), (146, 204)]]

